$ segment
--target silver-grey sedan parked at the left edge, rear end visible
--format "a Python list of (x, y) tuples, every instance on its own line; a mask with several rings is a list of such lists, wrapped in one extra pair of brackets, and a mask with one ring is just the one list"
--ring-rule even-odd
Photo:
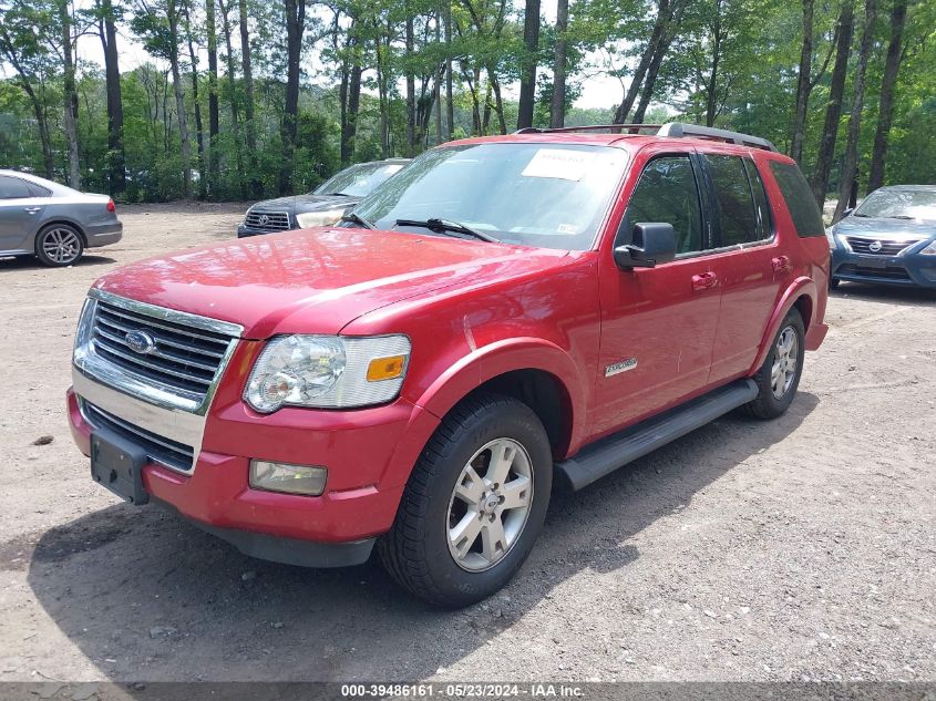
[(85, 248), (115, 244), (122, 236), (123, 224), (107, 195), (0, 171), (0, 256), (35, 256), (47, 266), (70, 266)]

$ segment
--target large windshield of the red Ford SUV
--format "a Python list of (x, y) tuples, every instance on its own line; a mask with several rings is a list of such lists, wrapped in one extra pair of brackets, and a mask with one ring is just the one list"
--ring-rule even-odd
[[(426, 152), (354, 209), (379, 229), (443, 219), (498, 240), (592, 247), (624, 174), (618, 148), (485, 143)], [(410, 225), (401, 225), (409, 227)]]

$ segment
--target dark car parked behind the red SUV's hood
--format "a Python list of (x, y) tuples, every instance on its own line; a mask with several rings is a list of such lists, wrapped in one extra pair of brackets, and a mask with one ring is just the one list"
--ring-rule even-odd
[(408, 158), (388, 158), (359, 163), (336, 173), (308, 195), (258, 202), (247, 210), (244, 223), (237, 227), (237, 237), (335, 224), (409, 162)]

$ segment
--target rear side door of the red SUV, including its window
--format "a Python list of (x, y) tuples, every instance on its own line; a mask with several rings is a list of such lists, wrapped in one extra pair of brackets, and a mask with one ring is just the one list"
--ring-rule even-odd
[(781, 252), (763, 182), (750, 155), (708, 148), (706, 172), (716, 225), (716, 272), (721, 281), (710, 382), (747, 374), (770, 316), (792, 279)]

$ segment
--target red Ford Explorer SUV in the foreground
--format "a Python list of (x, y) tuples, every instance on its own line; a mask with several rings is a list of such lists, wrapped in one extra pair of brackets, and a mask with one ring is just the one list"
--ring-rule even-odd
[(829, 245), (795, 163), (689, 125), (445, 144), (335, 227), (111, 272), (79, 323), (94, 480), (256, 557), (374, 546), (461, 606), (580, 488), (736, 408), (782, 414)]

